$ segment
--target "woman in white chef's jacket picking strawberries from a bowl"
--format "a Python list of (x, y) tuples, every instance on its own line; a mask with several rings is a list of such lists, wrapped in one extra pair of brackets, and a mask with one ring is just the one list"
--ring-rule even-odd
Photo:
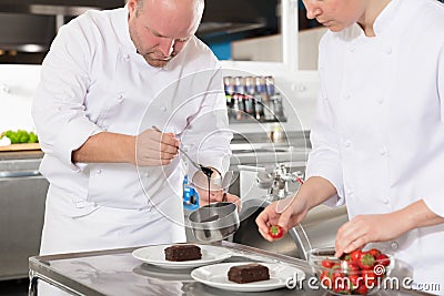
[(386, 242), (414, 283), (440, 284), (444, 262), (444, 7), (436, 0), (304, 0), (330, 30), (306, 182), (258, 217), (284, 232), (321, 203), (346, 203), (336, 256)]

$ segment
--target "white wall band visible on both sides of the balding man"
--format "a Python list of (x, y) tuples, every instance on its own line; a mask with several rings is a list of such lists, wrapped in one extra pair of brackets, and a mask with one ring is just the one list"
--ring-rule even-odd
[[(310, 130), (319, 79), (316, 71), (290, 71), (282, 63), (222, 61), (224, 75), (273, 75), (284, 95), (289, 121), (285, 131)], [(7, 130), (33, 131), (31, 105), (40, 80), (40, 65), (0, 64), (0, 133)], [(273, 124), (232, 124), (239, 132), (273, 130)]]

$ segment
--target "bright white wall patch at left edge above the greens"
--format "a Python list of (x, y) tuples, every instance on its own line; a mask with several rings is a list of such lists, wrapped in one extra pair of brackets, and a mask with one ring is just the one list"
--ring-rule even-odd
[(33, 131), (31, 105), (40, 80), (40, 65), (0, 64), (0, 133)]

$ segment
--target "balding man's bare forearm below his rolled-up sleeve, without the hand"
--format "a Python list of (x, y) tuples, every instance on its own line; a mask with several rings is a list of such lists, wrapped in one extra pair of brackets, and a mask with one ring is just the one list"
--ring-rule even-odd
[(109, 132), (98, 133), (72, 152), (72, 162), (134, 163), (135, 137)]

